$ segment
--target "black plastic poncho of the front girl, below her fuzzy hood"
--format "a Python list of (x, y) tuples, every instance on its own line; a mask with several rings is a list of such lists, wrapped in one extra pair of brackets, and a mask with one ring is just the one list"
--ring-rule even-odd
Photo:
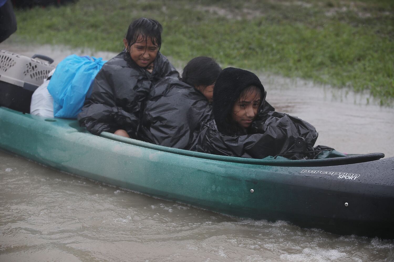
[[(288, 114), (275, 111), (262, 112), (264, 119), (256, 121), (256, 134), (229, 136), (217, 130), (214, 120), (201, 125), (194, 132), (189, 150), (236, 156), (243, 158), (265, 158), (284, 156), (290, 159), (311, 159), (318, 153), (313, 145), (318, 133), (309, 123)], [(260, 117), (263, 117), (260, 115)]]

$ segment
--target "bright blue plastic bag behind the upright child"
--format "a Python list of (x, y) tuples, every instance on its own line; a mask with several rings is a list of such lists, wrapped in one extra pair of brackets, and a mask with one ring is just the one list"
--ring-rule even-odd
[(48, 84), (54, 99), (54, 116), (76, 118), (81, 112), (89, 88), (103, 64), (102, 58), (69, 55), (56, 66)]

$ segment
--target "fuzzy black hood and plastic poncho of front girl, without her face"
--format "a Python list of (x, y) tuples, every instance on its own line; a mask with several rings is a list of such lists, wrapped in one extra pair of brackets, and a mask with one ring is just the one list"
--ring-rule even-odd
[[(206, 121), (193, 133), (193, 143), (188, 149), (245, 158), (276, 155), (290, 159), (313, 158), (314, 154), (308, 152), (313, 152), (318, 133), (297, 117), (260, 110), (250, 130), (233, 127), (229, 119), (232, 106), (242, 90), (251, 85), (258, 87), (264, 96), (264, 87), (255, 74), (238, 68), (221, 72), (214, 88), (214, 120)], [(262, 107), (267, 108), (265, 103)]]

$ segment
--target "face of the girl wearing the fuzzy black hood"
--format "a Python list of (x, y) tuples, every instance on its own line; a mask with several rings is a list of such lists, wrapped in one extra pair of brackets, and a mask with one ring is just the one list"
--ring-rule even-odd
[(257, 115), (260, 106), (260, 92), (253, 88), (251, 92), (241, 93), (234, 106), (232, 106), (231, 117), (240, 126), (248, 128)]

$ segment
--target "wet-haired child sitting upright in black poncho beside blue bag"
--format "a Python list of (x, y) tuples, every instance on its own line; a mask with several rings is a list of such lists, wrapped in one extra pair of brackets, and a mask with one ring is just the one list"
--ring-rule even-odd
[(164, 77), (179, 77), (160, 53), (162, 26), (139, 18), (128, 27), (125, 50), (104, 64), (92, 83), (91, 96), (78, 115), (92, 134), (111, 132), (137, 137), (142, 106), (151, 86)]

